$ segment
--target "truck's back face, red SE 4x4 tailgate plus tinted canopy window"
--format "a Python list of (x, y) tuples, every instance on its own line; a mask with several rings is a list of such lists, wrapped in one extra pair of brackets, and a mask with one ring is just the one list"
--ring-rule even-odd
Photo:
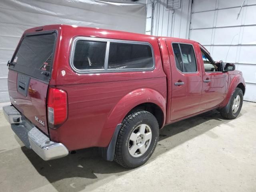
[(12, 104), (46, 134), (46, 97), (55, 42), (54, 32), (24, 36), (14, 53), (8, 73)]

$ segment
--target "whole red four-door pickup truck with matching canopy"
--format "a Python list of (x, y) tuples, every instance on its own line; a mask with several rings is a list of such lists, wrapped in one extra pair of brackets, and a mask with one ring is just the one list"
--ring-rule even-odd
[(241, 110), (245, 82), (193, 40), (68, 25), (24, 32), (7, 64), (12, 130), (43, 160), (98, 147), (133, 168), (159, 129), (217, 109)]

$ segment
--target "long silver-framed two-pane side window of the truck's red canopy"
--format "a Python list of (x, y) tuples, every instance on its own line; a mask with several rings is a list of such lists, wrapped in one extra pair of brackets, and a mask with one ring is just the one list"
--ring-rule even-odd
[(147, 42), (76, 38), (70, 64), (75, 72), (125, 72), (154, 69), (153, 48)]

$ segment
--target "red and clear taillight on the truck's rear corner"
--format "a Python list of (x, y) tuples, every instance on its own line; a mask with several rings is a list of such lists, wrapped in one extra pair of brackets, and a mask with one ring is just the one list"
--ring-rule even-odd
[(68, 98), (64, 90), (49, 88), (47, 98), (48, 126), (58, 128), (68, 116)]

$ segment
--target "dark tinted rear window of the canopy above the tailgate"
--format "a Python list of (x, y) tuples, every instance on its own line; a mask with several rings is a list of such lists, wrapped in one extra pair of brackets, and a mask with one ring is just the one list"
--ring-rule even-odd
[(49, 82), (56, 33), (24, 36), (9, 69)]

